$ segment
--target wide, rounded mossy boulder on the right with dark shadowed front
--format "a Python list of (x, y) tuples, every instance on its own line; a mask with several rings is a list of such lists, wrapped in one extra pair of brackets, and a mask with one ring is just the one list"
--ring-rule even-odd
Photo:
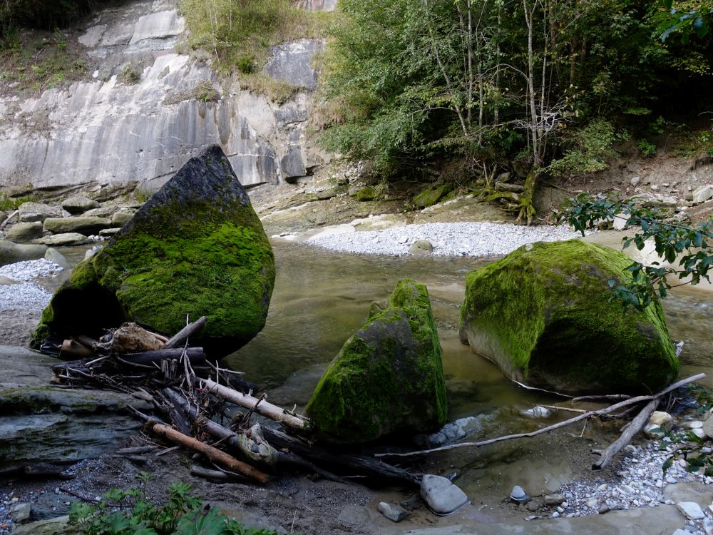
[(460, 337), (518, 382), (565, 394), (652, 392), (679, 362), (658, 300), (644, 311), (611, 301), (609, 280), (631, 260), (569, 240), (524, 245), (471, 271)]

